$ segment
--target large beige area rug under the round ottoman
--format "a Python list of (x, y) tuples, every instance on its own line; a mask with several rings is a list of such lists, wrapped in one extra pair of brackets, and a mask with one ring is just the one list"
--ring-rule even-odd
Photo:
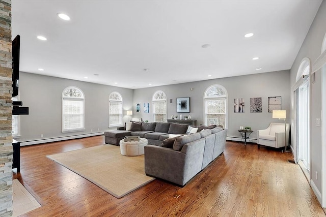
[(90, 180), (116, 198), (154, 180), (145, 174), (144, 156), (123, 156), (116, 145), (99, 145), (46, 157)]

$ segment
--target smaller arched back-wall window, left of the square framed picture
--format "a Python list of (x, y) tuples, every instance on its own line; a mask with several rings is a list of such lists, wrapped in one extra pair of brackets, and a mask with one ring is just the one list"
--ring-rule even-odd
[(162, 90), (154, 92), (153, 99), (153, 121), (166, 122), (167, 121), (167, 95)]

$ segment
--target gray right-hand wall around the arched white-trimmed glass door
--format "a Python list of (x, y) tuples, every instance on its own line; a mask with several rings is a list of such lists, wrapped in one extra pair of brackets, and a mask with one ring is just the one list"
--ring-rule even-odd
[[(313, 64), (317, 57), (321, 54), (321, 46), (324, 35), (326, 33), (326, 1), (323, 1), (316, 14), (316, 17), (310, 26), (306, 39), (298, 52), (295, 61), (291, 68), (291, 86), (295, 84), (296, 74), (300, 63), (303, 58), (308, 57)], [(312, 67), (312, 66), (311, 66)], [(321, 128), (315, 125), (315, 119), (321, 118), (321, 70), (315, 73), (315, 82), (311, 83), (311, 185), (314, 189), (316, 196), (320, 201), (321, 194), (321, 176), (322, 176), (322, 149), (321, 149)], [(315, 172), (319, 174), (319, 178), (316, 179)], [(324, 180), (326, 181), (326, 180)]]

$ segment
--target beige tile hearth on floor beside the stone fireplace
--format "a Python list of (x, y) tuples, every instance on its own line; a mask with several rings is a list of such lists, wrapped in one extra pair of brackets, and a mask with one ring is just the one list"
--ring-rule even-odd
[(41, 207), (41, 204), (23, 187), (18, 179), (12, 180), (13, 214), (19, 216)]

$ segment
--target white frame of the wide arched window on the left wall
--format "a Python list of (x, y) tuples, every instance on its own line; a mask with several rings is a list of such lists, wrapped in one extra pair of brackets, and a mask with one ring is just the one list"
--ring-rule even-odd
[[(76, 89), (80, 92), (81, 97), (65, 97), (65, 91), (68, 89)], [(68, 86), (62, 91), (62, 133), (67, 132), (76, 132), (76, 131), (85, 131), (85, 94), (82, 89), (76, 86)], [(66, 101), (77, 101), (77, 102), (83, 102), (83, 126), (80, 126), (79, 128), (72, 128), (72, 129), (65, 129), (65, 102)]]

